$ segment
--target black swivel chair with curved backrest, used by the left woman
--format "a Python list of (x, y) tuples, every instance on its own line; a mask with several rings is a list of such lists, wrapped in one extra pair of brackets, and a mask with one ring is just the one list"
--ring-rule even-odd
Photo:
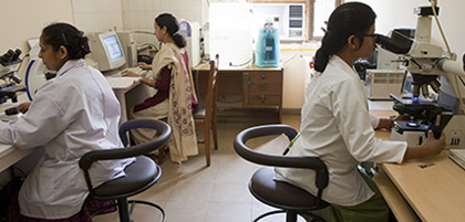
[[(146, 144), (126, 148), (128, 144), (126, 133), (128, 133), (130, 129), (137, 127), (156, 129), (161, 133), (161, 135)], [(118, 133), (125, 148), (90, 151), (82, 156), (79, 161), (80, 168), (84, 171), (85, 182), (87, 183), (90, 191), (90, 198), (95, 200), (116, 200), (115, 205), (117, 205), (121, 222), (132, 221), (131, 215), (136, 203), (146, 204), (158, 209), (162, 212), (163, 222), (165, 222), (166, 214), (159, 205), (147, 201), (128, 201), (127, 198), (145, 191), (158, 181), (159, 177), (162, 176), (162, 169), (154, 162), (154, 160), (144, 155), (157, 150), (166, 145), (172, 134), (172, 128), (166, 123), (161, 120), (133, 119), (121, 125)], [(126, 177), (110, 180), (96, 188), (93, 188), (91, 178), (89, 176), (89, 169), (93, 162), (100, 160), (124, 159), (130, 157), (136, 157), (136, 161), (124, 169)], [(131, 211), (128, 211), (128, 203), (132, 203)], [(93, 215), (99, 214), (105, 209), (107, 208), (100, 209)]]

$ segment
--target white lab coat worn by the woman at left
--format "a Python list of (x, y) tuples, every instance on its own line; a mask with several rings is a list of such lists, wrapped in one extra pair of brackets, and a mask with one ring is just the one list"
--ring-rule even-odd
[[(117, 135), (120, 116), (120, 104), (104, 76), (84, 60), (75, 60), (39, 88), (23, 117), (1, 123), (0, 142), (45, 150), (45, 159), (21, 187), (21, 214), (64, 219), (78, 213), (89, 194), (79, 160), (91, 150), (123, 147)], [(133, 160), (94, 163), (93, 186), (124, 176), (124, 167)]]

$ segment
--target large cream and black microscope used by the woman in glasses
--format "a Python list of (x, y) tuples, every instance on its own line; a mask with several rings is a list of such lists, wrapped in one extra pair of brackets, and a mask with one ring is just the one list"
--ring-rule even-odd
[[(376, 39), (378, 45), (401, 55), (412, 74), (412, 95), (391, 94), (393, 109), (410, 117), (394, 123), (391, 140), (418, 146), (431, 129), (435, 138), (445, 134), (446, 148), (465, 148), (465, 73), (455, 54), (447, 50), (448, 55), (444, 55), (442, 46), (431, 43), (432, 18), (437, 19), (440, 8), (435, 0), (430, 1), (431, 7), (415, 9), (418, 18), (414, 39), (395, 30), (390, 36)], [(430, 97), (430, 89), (438, 94), (437, 98)]]

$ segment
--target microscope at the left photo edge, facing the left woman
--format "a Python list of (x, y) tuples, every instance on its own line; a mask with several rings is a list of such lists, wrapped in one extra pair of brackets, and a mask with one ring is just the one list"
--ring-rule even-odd
[(18, 66), (21, 64), (20, 54), (21, 50), (17, 49), (0, 55), (0, 78), (3, 81), (0, 84), (0, 104), (6, 103), (8, 98), (17, 103), (17, 93), (25, 91), (24, 85), (19, 85), (22, 80), (17, 75)]

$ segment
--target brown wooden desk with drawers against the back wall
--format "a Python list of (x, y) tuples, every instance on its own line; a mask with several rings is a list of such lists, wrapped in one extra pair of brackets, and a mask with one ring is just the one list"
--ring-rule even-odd
[[(209, 64), (193, 68), (198, 72), (198, 93), (206, 94)], [(277, 107), (282, 123), (282, 67), (247, 65), (218, 70), (218, 95), (240, 95), (242, 107)]]

